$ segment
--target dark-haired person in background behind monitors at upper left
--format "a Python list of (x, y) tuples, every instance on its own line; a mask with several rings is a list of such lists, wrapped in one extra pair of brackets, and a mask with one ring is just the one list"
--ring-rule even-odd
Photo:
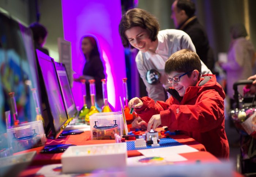
[(44, 52), (49, 56), (48, 49), (44, 48), (48, 31), (47, 29), (38, 22), (32, 23), (29, 28), (32, 30), (35, 49)]

